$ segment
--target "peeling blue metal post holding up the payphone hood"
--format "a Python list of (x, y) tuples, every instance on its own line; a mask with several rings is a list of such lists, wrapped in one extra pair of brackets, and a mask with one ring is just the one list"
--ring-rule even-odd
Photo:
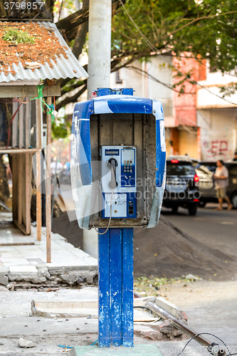
[(133, 229), (108, 229), (98, 247), (99, 347), (132, 347)]

